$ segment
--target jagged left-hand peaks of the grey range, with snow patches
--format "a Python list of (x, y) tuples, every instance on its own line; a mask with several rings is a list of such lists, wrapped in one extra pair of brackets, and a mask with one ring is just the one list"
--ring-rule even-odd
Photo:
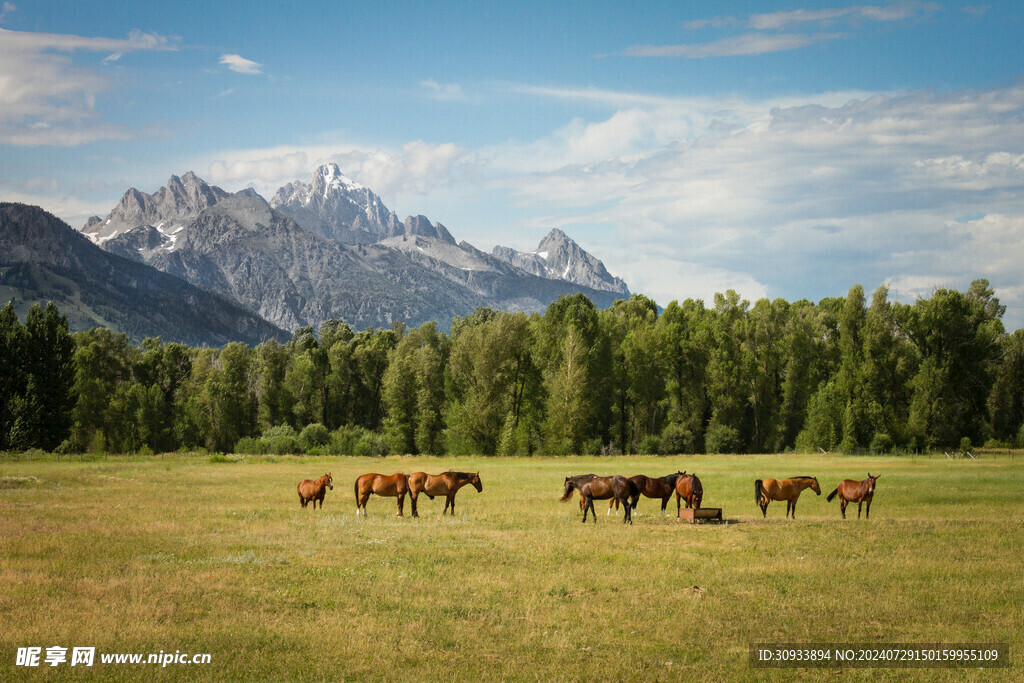
[(211, 185), (191, 171), (180, 178), (172, 175), (167, 184), (153, 195), (132, 187), (106, 216), (93, 216), (82, 232), (102, 244), (139, 225), (152, 225), (158, 231), (173, 236), (188, 219), (227, 197), (229, 193)]

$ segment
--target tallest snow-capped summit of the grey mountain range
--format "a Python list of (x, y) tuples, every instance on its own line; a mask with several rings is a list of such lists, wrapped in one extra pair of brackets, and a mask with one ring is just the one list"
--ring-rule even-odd
[(398, 216), (373, 191), (345, 177), (337, 164), (321, 166), (309, 183), (288, 183), (270, 198), (270, 206), (310, 232), (346, 244), (403, 232)]

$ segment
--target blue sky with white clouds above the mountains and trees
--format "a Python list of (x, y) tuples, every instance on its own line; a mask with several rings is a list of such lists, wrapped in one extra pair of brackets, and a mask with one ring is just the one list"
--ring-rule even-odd
[(1024, 3), (0, 0), (0, 201), (335, 162), (666, 305), (987, 279), (1024, 327)]

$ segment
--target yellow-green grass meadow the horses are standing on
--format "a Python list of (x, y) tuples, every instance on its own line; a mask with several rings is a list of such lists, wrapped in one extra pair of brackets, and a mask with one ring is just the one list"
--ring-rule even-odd
[[(479, 470), (483, 492), (373, 497), (364, 472)], [(723, 525), (641, 499), (580, 523), (563, 477), (696, 472)], [(330, 470), (323, 511), (297, 481)], [(881, 473), (869, 521), (825, 496)], [(758, 477), (815, 475), (796, 520)], [(675, 512), (675, 502), (670, 506)], [(852, 515), (849, 513), (852, 512)], [(856, 680), (1020, 680), (1024, 458), (207, 458), (0, 464), (0, 680), (833, 680), (759, 670), (755, 642), (1002, 642), (1001, 670), (847, 669)], [(92, 669), (15, 667), (94, 646)], [(211, 664), (101, 665), (101, 652)], [(69, 649), (69, 657), (71, 650)], [(47, 671), (42, 671), (46, 669)]]

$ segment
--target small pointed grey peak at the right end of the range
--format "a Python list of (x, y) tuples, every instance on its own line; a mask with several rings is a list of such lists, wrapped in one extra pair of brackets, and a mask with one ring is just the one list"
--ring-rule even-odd
[(510, 247), (495, 247), (493, 255), (526, 272), (564, 280), (583, 287), (611, 292), (620, 298), (629, 298), (630, 290), (620, 278), (615, 278), (598, 259), (583, 250), (567, 234), (555, 228), (541, 240), (532, 252), (516, 251)]

